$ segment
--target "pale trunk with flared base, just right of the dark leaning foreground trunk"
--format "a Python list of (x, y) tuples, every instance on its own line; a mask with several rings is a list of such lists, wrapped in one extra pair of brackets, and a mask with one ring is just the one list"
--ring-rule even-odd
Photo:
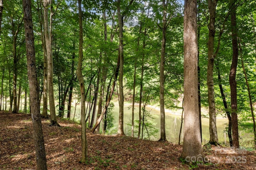
[(50, 12), (50, 26), (48, 23), (48, 8), (51, 6), (51, 0), (44, 0), (44, 38), (47, 51), (47, 80), (48, 95), (50, 106), (51, 126), (60, 126), (56, 119), (54, 89), (53, 89), (53, 60), (52, 60), (52, 12)]

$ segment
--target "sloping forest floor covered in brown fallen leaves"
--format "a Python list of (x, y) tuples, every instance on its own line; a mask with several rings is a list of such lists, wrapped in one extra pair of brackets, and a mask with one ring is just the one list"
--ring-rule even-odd
[[(208, 163), (188, 166), (179, 160), (182, 146), (170, 142), (138, 140), (128, 136), (87, 133), (88, 163), (81, 158), (80, 125), (58, 119), (61, 127), (49, 127), (42, 119), (48, 170), (256, 170), (256, 151), (208, 147)], [(0, 112), (0, 169), (34, 170), (31, 116)]]

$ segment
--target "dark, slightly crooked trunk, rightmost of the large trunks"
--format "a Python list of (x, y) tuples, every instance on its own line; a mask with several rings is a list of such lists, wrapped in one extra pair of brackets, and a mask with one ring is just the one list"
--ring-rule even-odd
[(237, 117), (237, 89), (236, 89), (236, 67), (238, 63), (238, 41), (236, 27), (236, 7), (235, 0), (230, 0), (230, 16), (231, 16), (231, 36), (232, 36), (232, 63), (229, 74), (230, 95), (231, 95), (231, 116), (232, 116), (232, 139), (233, 147), (239, 148), (238, 135), (238, 117)]

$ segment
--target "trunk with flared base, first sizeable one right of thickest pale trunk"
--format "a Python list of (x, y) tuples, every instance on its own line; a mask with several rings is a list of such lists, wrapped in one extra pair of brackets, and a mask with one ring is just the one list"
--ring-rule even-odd
[(207, 66), (207, 89), (208, 89), (208, 104), (209, 104), (209, 132), (210, 144), (219, 145), (217, 127), (216, 127), (216, 109), (214, 99), (214, 37), (215, 37), (215, 12), (218, 0), (208, 0), (208, 10), (210, 14), (210, 22), (208, 25), (208, 66)]

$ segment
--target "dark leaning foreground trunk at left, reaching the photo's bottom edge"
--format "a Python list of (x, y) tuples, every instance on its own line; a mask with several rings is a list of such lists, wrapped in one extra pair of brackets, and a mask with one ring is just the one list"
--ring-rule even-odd
[(31, 1), (22, 0), (24, 13), (24, 26), (26, 37), (26, 54), (28, 66), (28, 81), (30, 89), (30, 107), (33, 124), (34, 143), (36, 149), (37, 170), (46, 170), (46, 152), (44, 149), (44, 136), (42, 131), (39, 101), (39, 85), (36, 74), (36, 53), (34, 48), (34, 34), (31, 13)]

